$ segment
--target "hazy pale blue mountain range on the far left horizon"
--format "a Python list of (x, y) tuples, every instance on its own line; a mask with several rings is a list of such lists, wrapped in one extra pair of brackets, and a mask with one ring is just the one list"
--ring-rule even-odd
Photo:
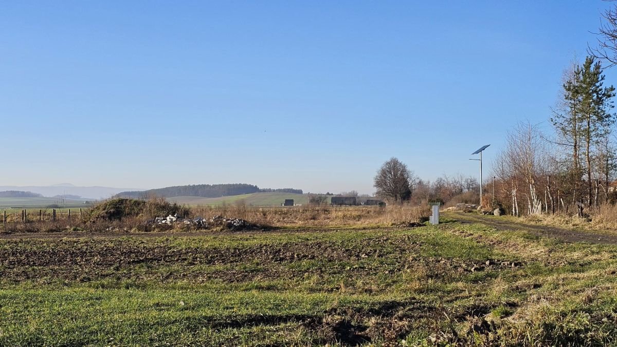
[(53, 186), (0, 186), (3, 190), (19, 190), (22, 192), (33, 192), (44, 197), (54, 197), (56, 195), (76, 195), (89, 200), (106, 199), (126, 190), (141, 191), (144, 189), (135, 188), (113, 188), (113, 187), (77, 187), (70, 183), (54, 184)]

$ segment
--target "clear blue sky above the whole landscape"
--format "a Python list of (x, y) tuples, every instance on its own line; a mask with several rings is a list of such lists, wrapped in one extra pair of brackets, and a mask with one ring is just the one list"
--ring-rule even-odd
[(477, 176), (517, 121), (550, 129), (607, 6), (2, 2), (0, 185), (371, 193), (393, 156)]

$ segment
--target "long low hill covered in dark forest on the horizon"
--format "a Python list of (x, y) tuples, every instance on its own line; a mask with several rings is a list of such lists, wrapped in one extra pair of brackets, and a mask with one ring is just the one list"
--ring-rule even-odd
[(154, 197), (201, 197), (201, 198), (218, 198), (229, 197), (234, 195), (254, 194), (259, 192), (268, 193), (292, 193), (302, 194), (301, 189), (283, 188), (283, 189), (260, 189), (253, 184), (235, 183), (235, 184), (193, 184), (189, 186), (173, 186), (158, 189), (149, 189), (136, 192), (121, 192), (116, 197), (126, 198), (144, 198), (149, 196)]

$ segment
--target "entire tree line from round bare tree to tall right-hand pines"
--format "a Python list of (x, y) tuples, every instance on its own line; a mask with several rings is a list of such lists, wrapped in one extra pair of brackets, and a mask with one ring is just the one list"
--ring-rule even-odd
[[(584, 210), (616, 202), (616, 93), (613, 86), (605, 86), (602, 62), (617, 65), (617, 6), (603, 17), (597, 47), (589, 46), (589, 56), (574, 59), (563, 73), (557, 105), (549, 117), (552, 131), (521, 122), (508, 132), (505, 147), (494, 160), (492, 179), (486, 182), (484, 208), (500, 208), (515, 216), (574, 211), (581, 216)], [(447, 202), (461, 194), (460, 181), (465, 180), (455, 181), (444, 178), (426, 184), (392, 158), (379, 169), (375, 187), (393, 202)]]

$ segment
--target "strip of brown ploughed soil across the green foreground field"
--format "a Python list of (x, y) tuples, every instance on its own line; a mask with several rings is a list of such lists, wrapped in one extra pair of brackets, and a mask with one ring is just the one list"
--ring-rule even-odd
[[(302, 277), (326, 272), (357, 276), (421, 272), (426, 278), (449, 278), (464, 273), (498, 271), (522, 264), (503, 259), (445, 259), (416, 256), (423, 246), (412, 235), (366, 237), (360, 240), (256, 243), (236, 246), (177, 247), (174, 240), (29, 239), (6, 240), (0, 247), (0, 276), (25, 280), (80, 280), (108, 277), (191, 282), (220, 280), (246, 282), (254, 279)], [(312, 260), (333, 264), (293, 269), (288, 264)], [(362, 259), (386, 259), (360, 262)], [(239, 266), (248, 264), (248, 267)], [(336, 265), (338, 264), (338, 265)], [(220, 266), (211, 269), (199, 267)], [(172, 267), (168, 267), (172, 266)], [(144, 269), (160, 269), (146, 271)], [(326, 288), (338, 290), (339, 288)]]

